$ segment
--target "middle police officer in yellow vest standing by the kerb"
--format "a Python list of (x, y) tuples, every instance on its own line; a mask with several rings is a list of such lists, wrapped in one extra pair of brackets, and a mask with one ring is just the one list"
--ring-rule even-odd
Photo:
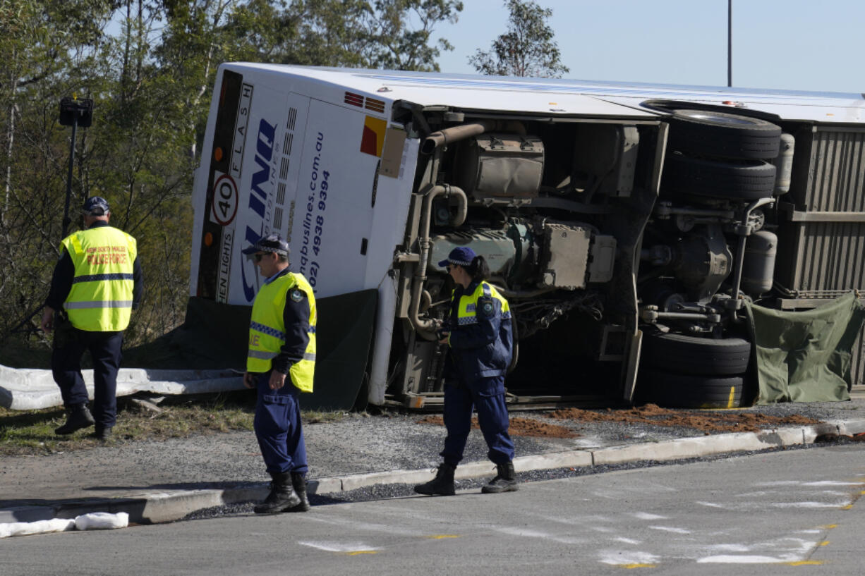
[(249, 323), (247, 373), (258, 389), (253, 427), (272, 478), (257, 514), (305, 512), (306, 445), (298, 393), (312, 392), (316, 365), (316, 298), (302, 274), (288, 271), (288, 242), (269, 234), (243, 250), (265, 278)]

